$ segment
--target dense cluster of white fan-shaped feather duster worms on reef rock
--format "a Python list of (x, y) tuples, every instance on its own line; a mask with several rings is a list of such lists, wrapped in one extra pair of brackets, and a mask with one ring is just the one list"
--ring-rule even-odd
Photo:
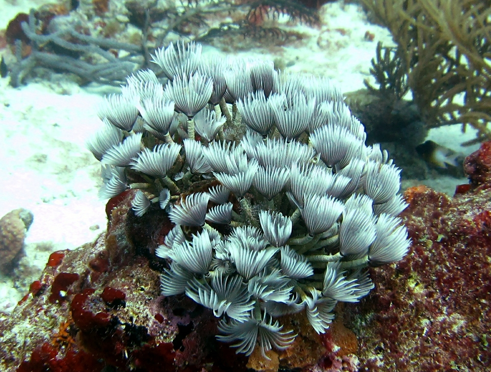
[(101, 107), (104, 128), (88, 143), (104, 164), (101, 197), (137, 188), (137, 216), (168, 216), (162, 293), (213, 310), (218, 339), (238, 352), (288, 347), (286, 314), (324, 333), (338, 301), (373, 289), (366, 266), (408, 251), (400, 170), (365, 145), (330, 80), (194, 43), (153, 61), (165, 84), (138, 71)]

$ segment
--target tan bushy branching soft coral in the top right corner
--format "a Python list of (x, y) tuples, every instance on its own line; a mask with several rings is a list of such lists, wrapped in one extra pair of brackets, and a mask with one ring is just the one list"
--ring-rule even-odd
[(491, 138), (491, 1), (360, 0), (389, 28), (430, 128), (462, 123)]

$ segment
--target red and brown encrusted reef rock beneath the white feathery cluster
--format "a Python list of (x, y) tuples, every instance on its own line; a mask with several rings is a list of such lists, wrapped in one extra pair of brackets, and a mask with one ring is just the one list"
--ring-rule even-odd
[(172, 224), (135, 217), (135, 191), (125, 191), (108, 202), (107, 233), (53, 253), (16, 309), (0, 314), (0, 370), (490, 371), (491, 142), (464, 167), (470, 183), (453, 197), (406, 190), (410, 253), (371, 268), (375, 290), (338, 304), (326, 334), (304, 317), (282, 319), (299, 336), (269, 361), (217, 342), (210, 310), (160, 294), (165, 262), (154, 253)]

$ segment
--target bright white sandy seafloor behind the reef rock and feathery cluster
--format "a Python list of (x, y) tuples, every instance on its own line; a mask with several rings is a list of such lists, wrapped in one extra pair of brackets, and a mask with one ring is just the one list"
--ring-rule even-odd
[[(43, 2), (53, 0), (0, 0), (0, 29), (18, 12), (28, 12)], [(301, 43), (238, 54), (280, 58), (289, 70), (328, 76), (346, 92), (362, 88), (377, 41), (392, 44), (389, 32), (369, 24), (358, 6), (341, 1), (326, 4), (321, 17), (320, 29), (302, 29), (310, 37)], [(364, 39), (366, 31), (375, 35), (374, 41)], [(204, 48), (206, 52), (211, 49)], [(96, 110), (102, 91), (81, 88), (62, 78), (20, 88), (0, 79), (0, 216), (17, 208), (34, 214), (26, 256), (12, 277), (0, 276), (0, 311), (11, 311), (27, 293), (51, 252), (75, 249), (93, 241), (106, 228), (106, 201), (97, 197), (102, 184), (100, 163), (84, 146), (101, 125)], [(460, 127), (430, 133), (439, 144), (464, 154), (476, 149), (460, 147), (472, 136), (463, 136)], [(455, 185), (465, 182), (449, 178), (428, 180), (426, 184), (452, 193)]]

